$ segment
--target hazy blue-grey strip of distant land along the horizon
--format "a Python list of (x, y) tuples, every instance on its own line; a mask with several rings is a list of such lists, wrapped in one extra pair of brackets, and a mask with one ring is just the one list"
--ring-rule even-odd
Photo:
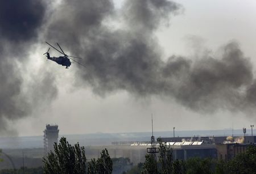
[[(256, 131), (254, 130), (256, 133)], [(246, 136), (250, 136), (248, 130)], [(243, 136), (241, 129), (233, 130), (234, 137)], [(156, 138), (173, 137), (173, 131), (154, 131)], [(175, 137), (228, 137), (232, 136), (232, 129), (225, 130), (177, 130)], [(87, 134), (59, 134), (67, 138), (71, 144), (79, 142), (81, 146), (109, 146), (112, 142), (119, 141), (150, 141), (151, 131), (147, 132), (130, 132), (130, 133), (87, 133)], [(26, 137), (0, 137), (0, 148), (43, 148), (43, 134)]]

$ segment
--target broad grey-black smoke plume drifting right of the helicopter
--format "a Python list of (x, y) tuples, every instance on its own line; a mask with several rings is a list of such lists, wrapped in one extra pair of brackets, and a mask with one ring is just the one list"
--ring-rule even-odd
[(77, 74), (99, 95), (125, 90), (167, 97), (208, 113), (255, 107), (253, 67), (238, 43), (223, 46), (220, 57), (162, 60), (155, 31), (182, 11), (167, 0), (127, 0), (121, 10), (112, 1), (64, 0), (52, 15), (46, 38), (68, 43), (73, 54), (84, 57), (86, 69), (78, 65)]

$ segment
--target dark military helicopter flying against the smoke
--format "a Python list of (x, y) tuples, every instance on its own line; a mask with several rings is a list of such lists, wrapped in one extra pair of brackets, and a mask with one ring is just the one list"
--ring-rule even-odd
[[(47, 43), (47, 42), (46, 42), (46, 43)], [(68, 69), (68, 67), (71, 66), (71, 61), (70, 61), (69, 59), (71, 59), (72, 61), (74, 61), (74, 62), (76, 62), (76, 63), (79, 63), (80, 65), (82, 65), (82, 63), (73, 60), (73, 58), (79, 58), (79, 59), (81, 59), (80, 57), (68, 56), (67, 54), (64, 53), (63, 49), (61, 49), (61, 47), (60, 47), (60, 45), (59, 45), (58, 43), (56, 43), (56, 44), (59, 46), (59, 48), (60, 48), (61, 51), (58, 50), (57, 48), (55, 48), (54, 46), (52, 46), (51, 44), (49, 44), (49, 43), (47, 43), (47, 44), (50, 45), (52, 48), (56, 49), (58, 52), (60, 52), (61, 54), (64, 55), (64, 56), (60, 56), (60, 57), (51, 57), (51, 56), (49, 55), (49, 49), (51, 48), (51, 47), (50, 47), (50, 48), (47, 50), (47, 52), (44, 53), (44, 54), (47, 54), (47, 56), (46, 56), (47, 59), (49, 59), (49, 60), (51, 60), (51, 61), (55, 61), (56, 63), (58, 63), (58, 64), (60, 64), (60, 65), (62, 65), (62, 66), (66, 66), (66, 69)], [(43, 54), (43, 55), (44, 55), (44, 54)], [(71, 57), (73, 57), (73, 58), (71, 58)], [(84, 66), (84, 65), (82, 65), (82, 66)], [(85, 67), (85, 66), (84, 66), (84, 67)]]

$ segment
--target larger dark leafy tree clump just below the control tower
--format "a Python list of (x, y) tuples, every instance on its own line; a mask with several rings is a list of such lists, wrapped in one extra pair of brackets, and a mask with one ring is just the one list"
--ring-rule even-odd
[(55, 143), (54, 152), (49, 152), (47, 158), (43, 158), (44, 173), (85, 173), (86, 157), (84, 147), (79, 143), (69, 145), (66, 138), (60, 138), (59, 145)]

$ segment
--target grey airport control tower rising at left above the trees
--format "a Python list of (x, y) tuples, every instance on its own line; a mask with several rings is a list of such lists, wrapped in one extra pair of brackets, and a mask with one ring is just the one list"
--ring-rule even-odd
[(58, 142), (59, 129), (58, 125), (46, 125), (46, 130), (44, 130), (44, 151), (47, 153), (53, 150), (54, 143)]

